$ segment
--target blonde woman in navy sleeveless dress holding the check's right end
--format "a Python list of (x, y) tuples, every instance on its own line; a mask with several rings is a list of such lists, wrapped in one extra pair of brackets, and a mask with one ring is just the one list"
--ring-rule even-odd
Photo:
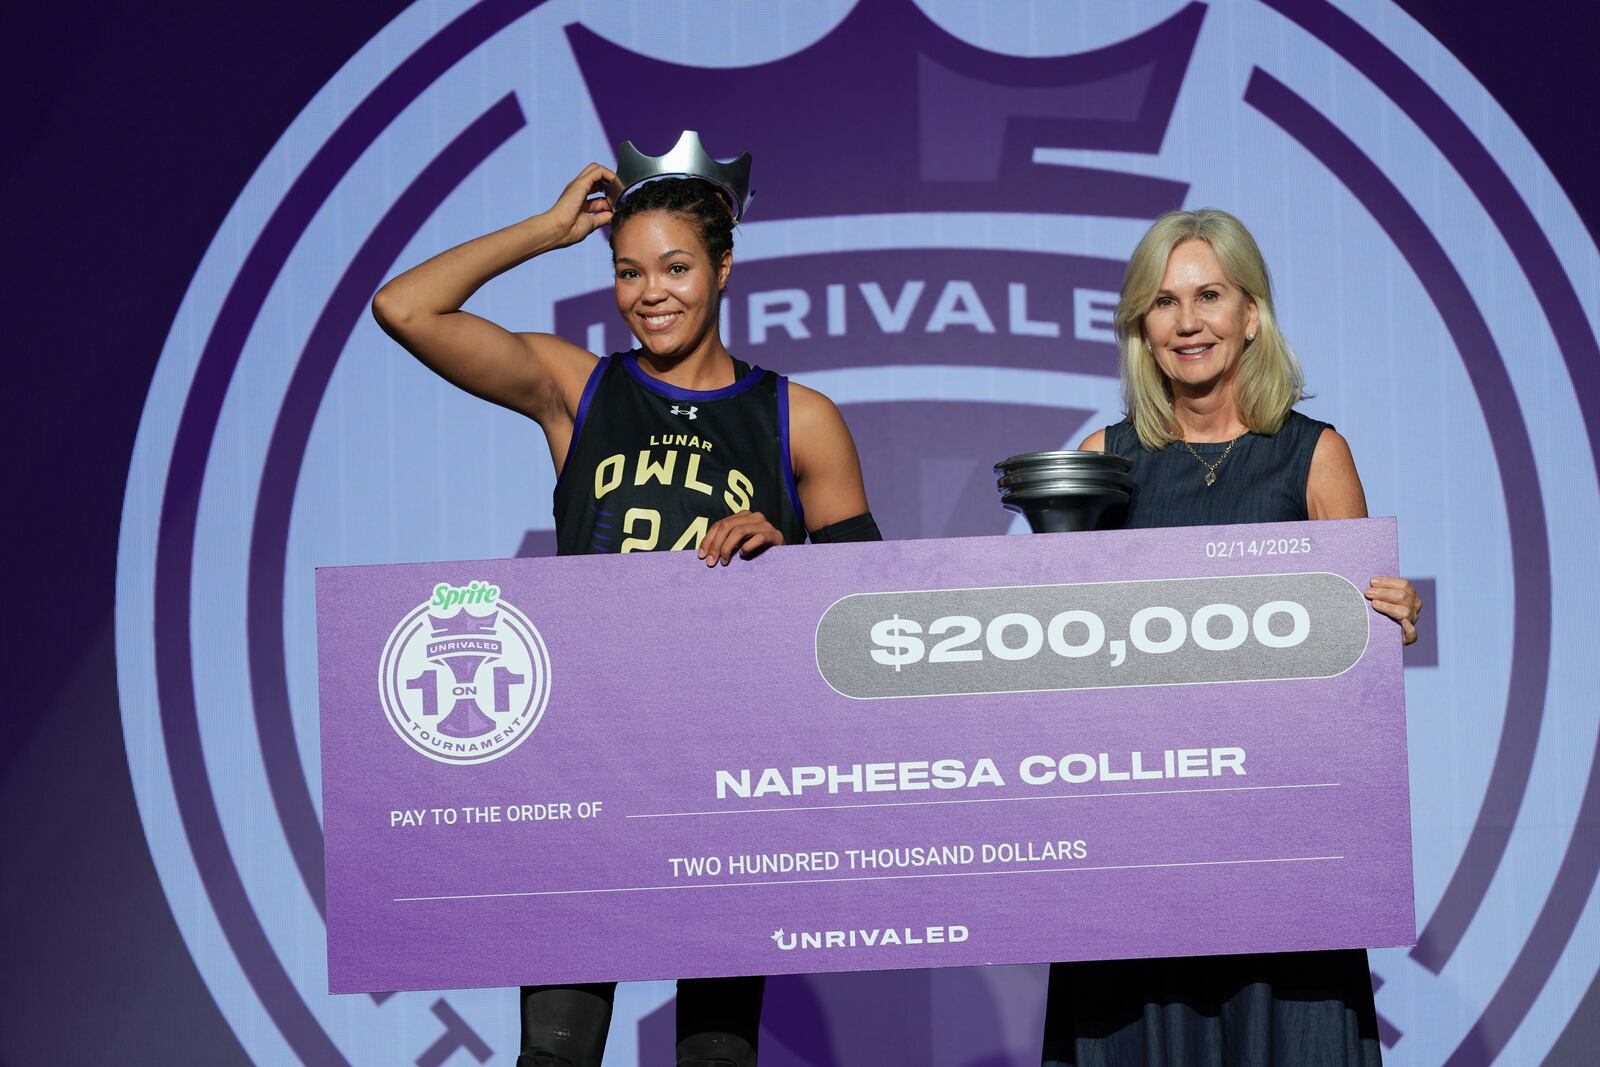
[[(1365, 518), (1346, 440), (1294, 405), (1299, 365), (1278, 330), (1250, 230), (1226, 211), (1171, 211), (1128, 261), (1117, 306), (1128, 418), (1080, 448), (1133, 464), (1125, 526)], [(1402, 577), (1373, 608), (1416, 640)], [(1293, 952), (1058, 963), (1046, 1065), (1370, 1065), (1382, 1059), (1366, 953)]]

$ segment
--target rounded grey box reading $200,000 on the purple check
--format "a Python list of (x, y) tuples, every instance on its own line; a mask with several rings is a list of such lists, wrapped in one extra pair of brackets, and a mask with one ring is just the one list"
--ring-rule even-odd
[(1368, 605), (1330, 573), (856, 593), (816, 627), (856, 699), (1330, 678)]

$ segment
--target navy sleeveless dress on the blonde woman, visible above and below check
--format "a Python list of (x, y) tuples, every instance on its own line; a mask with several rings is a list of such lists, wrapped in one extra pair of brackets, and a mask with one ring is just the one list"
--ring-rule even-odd
[[(1309, 518), (1306, 477), (1326, 422), (1291, 413), (1277, 434), (1147, 451), (1128, 421), (1106, 451), (1133, 464), (1125, 526)], [(1216, 483), (1205, 483), (1206, 466)], [(1056, 963), (1045, 1011), (1046, 1065), (1376, 1067), (1382, 1064), (1366, 952), (1275, 952)]]

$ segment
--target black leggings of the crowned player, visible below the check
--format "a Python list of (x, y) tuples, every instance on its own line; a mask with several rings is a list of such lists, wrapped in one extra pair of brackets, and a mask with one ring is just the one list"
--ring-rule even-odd
[[(678, 1067), (755, 1067), (765, 977), (678, 982)], [(517, 1067), (600, 1067), (614, 982), (522, 987)]]

